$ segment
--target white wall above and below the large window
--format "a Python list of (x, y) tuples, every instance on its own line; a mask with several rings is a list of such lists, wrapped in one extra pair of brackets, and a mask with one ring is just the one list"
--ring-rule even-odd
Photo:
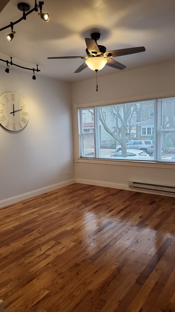
[[(114, 70), (115, 71), (115, 70)], [(117, 71), (117, 70), (116, 70)], [(95, 76), (95, 74), (94, 74)], [(72, 84), (74, 104), (113, 101), (118, 99), (147, 99), (158, 96), (175, 96), (175, 61), (148, 66), (131, 71), (117, 71), (116, 74), (98, 79), (99, 91), (96, 92), (96, 79)], [(122, 102), (122, 101), (121, 101)], [(75, 112), (76, 113), (76, 112)], [(74, 125), (74, 128), (76, 125)], [(74, 129), (76, 132), (76, 129)], [(75, 157), (78, 157), (77, 139)], [(150, 164), (132, 166), (107, 163), (75, 163), (76, 182), (128, 188), (128, 181), (159, 183), (175, 186), (174, 164)]]

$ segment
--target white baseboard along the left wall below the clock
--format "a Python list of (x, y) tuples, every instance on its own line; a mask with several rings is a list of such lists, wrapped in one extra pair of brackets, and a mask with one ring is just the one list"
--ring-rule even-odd
[(37, 196), (37, 195), (41, 195), (43, 193), (47, 193), (47, 192), (56, 190), (57, 188), (63, 188), (64, 186), (67, 186), (67, 185), (70, 185), (70, 184), (74, 184), (74, 183), (76, 183), (76, 180), (75, 179), (71, 179), (71, 180), (68, 180), (68, 181), (64, 181), (64, 182), (60, 182), (60, 183), (56, 183), (56, 184), (53, 184), (53, 185), (46, 186), (45, 188), (39, 188), (38, 190), (35, 190), (35, 191), (31, 191), (31, 192), (28, 192), (28, 193), (25, 193), (25, 194), (21, 194), (21, 195), (18, 195), (18, 196), (14, 196), (14, 197), (11, 197), (11, 198), (7, 198), (7, 199), (4, 199), (4, 200), (1, 200), (0, 201), (0, 208), (12, 205), (12, 204), (14, 204), (16, 202), (21, 202), (22, 200), (25, 200), (25, 199), (28, 199), (28, 198), (31, 198), (31, 197), (34, 197), (34, 196)]

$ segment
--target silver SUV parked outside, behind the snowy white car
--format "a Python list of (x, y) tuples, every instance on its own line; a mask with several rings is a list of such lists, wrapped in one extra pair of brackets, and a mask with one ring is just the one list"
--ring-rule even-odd
[[(127, 149), (141, 149), (149, 155), (154, 153), (154, 145), (151, 140), (131, 140), (127, 144)], [(121, 145), (116, 146), (116, 152), (121, 151)]]

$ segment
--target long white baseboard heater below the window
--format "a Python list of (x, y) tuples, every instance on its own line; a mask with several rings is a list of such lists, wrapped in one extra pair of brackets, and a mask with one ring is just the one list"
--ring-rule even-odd
[(134, 181), (128, 181), (128, 185), (131, 188), (141, 188), (141, 189), (148, 189), (152, 191), (163, 191), (163, 192), (175, 193), (175, 186), (171, 186), (171, 185), (151, 184), (151, 183), (142, 183), (142, 182), (134, 182)]

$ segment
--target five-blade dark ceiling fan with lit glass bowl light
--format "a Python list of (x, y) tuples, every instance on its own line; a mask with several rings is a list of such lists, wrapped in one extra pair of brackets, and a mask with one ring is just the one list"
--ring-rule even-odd
[(105, 65), (117, 68), (117, 69), (124, 69), (126, 68), (125, 65), (115, 61), (112, 57), (134, 54), (139, 52), (144, 52), (144, 46), (138, 46), (134, 48), (126, 48), (126, 49), (119, 49), (113, 51), (107, 51), (106, 47), (97, 44), (97, 40), (100, 38), (100, 33), (93, 32), (91, 38), (85, 38), (86, 43), (86, 54), (87, 56), (55, 56), (55, 57), (48, 57), (48, 59), (71, 59), (71, 58), (81, 58), (86, 59), (85, 63), (83, 63), (80, 67), (77, 68), (74, 73), (80, 73), (86, 67), (94, 71), (101, 70)]

